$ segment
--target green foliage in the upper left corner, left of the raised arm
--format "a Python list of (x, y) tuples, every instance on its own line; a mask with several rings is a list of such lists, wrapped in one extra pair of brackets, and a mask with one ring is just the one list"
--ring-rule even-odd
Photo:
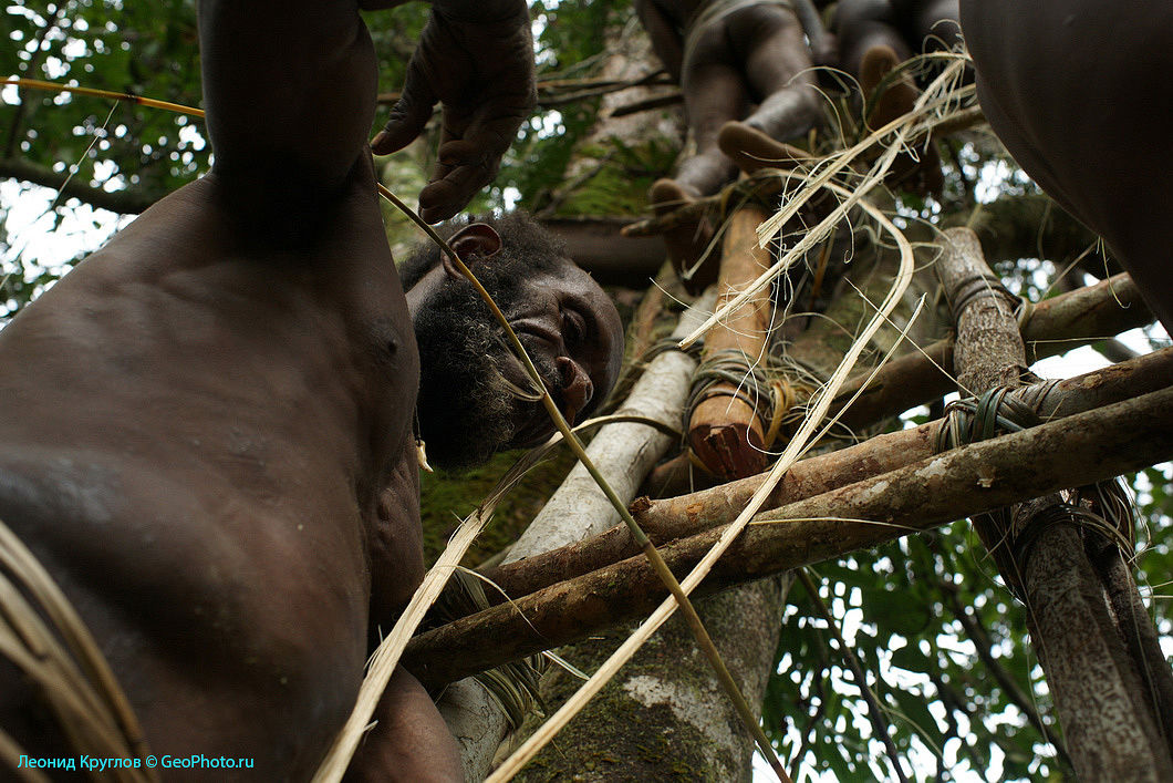
[[(5, 75), (43, 79), (198, 106), (194, 0), (152, 4), (32, 1), (4, 12)], [(15, 89), (6, 90), (6, 99)], [(4, 157), (20, 156), (95, 187), (158, 197), (206, 168), (209, 149), (184, 115), (106, 99), (21, 90), (0, 107)], [(111, 112), (113, 109), (113, 112)], [(93, 147), (90, 143), (94, 142)], [(101, 171), (94, 163), (102, 161)]]

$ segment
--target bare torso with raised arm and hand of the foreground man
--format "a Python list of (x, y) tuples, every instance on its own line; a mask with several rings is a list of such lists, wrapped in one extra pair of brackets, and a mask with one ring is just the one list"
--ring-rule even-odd
[[(423, 571), (419, 358), (366, 143), (375, 53), (358, 14), (391, 5), (204, 0), (215, 169), (0, 332), (0, 519), (88, 623), (151, 752), (253, 758), (251, 779), (310, 777), (373, 629)], [(379, 151), (436, 99), (430, 218), (491, 177), (531, 106), (523, 4), (433, 6)], [(480, 232), (457, 251), (491, 257), (493, 243)], [(613, 306), (597, 315), (605, 359), (531, 350), (605, 390), (622, 331)], [(39, 704), (0, 666), (0, 725), (33, 756), (66, 752)], [(354, 777), (462, 779), (409, 674), (378, 717)]]

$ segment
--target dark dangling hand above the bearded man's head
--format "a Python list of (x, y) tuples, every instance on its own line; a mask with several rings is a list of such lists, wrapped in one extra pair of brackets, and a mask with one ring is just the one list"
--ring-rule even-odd
[(523, 2), (509, 19), (477, 22), (433, 6), (407, 66), (402, 97), (371, 142), (378, 155), (402, 149), (443, 106), (439, 161), (420, 191), (428, 223), (452, 217), (487, 185), (537, 101), (534, 43)]

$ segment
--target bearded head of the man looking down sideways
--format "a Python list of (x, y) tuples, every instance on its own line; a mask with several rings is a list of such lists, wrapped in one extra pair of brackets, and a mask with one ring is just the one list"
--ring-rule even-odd
[[(530, 244), (529, 229), (523, 236), (518, 228), (502, 227), (514, 248), (506, 248), (483, 223), (461, 229), (449, 242), (493, 295), (567, 420), (579, 423), (618, 378), (622, 323), (590, 275), (561, 248)], [(543, 263), (527, 263), (518, 249), (542, 254)], [(540, 401), (510, 394), (497, 383), (534, 389), (488, 308), (447, 256), (441, 254), (440, 263), (414, 281), (407, 303), (427, 360), (421, 379), (426, 397), (418, 409), (421, 431), (439, 467), (449, 470), (454, 460), (460, 467), (486, 448), (491, 453), (536, 446), (554, 433)]]

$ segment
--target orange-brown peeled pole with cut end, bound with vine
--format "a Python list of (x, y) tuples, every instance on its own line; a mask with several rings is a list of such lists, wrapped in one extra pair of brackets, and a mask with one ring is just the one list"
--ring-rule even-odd
[[(758, 247), (758, 225), (766, 220), (759, 207), (746, 205), (730, 216), (721, 244), (717, 306), (723, 308), (741, 289), (769, 269), (769, 250)], [(769, 338), (769, 290), (758, 295), (714, 326), (705, 337), (701, 366), (725, 357), (734, 364), (762, 362)], [(730, 481), (766, 467), (766, 425), (745, 383), (721, 380), (704, 392), (689, 420), (689, 445), (708, 472)]]

